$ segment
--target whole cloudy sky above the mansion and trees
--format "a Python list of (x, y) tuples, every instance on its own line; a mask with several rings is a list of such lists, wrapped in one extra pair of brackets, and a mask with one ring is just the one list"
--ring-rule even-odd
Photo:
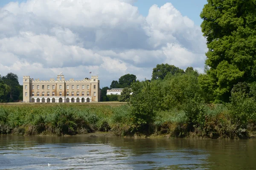
[[(200, 12), (207, 0), (0, 0), (0, 75), (49, 80), (125, 74), (157, 64), (204, 70)], [(89, 74), (89, 72), (92, 74)]]

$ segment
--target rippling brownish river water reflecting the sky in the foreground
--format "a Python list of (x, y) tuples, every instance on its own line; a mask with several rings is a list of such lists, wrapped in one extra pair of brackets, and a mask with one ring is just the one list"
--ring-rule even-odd
[(256, 140), (0, 136), (0, 170), (23, 169), (250, 170)]

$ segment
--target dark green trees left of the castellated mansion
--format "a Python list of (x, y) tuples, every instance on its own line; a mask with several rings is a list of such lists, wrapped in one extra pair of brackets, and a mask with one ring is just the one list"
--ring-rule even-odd
[(15, 102), (23, 99), (23, 85), (19, 84), (18, 76), (8, 73), (0, 75), (0, 102)]

